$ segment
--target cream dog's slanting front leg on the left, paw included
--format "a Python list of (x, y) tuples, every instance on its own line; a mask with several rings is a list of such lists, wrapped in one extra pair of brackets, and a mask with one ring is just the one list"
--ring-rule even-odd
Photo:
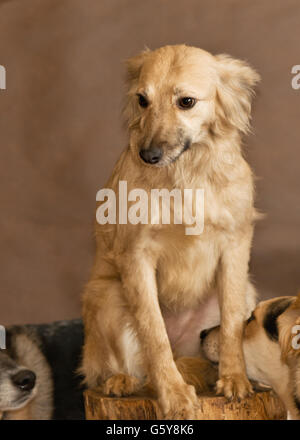
[(136, 322), (136, 331), (152, 382), (166, 419), (196, 417), (195, 389), (187, 385), (173, 360), (160, 311), (155, 267), (143, 252), (122, 258), (124, 293)]

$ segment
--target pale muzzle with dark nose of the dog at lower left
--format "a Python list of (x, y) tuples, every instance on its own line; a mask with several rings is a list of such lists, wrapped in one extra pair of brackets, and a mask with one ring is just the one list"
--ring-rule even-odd
[(19, 366), (0, 350), (0, 418), (3, 412), (23, 408), (36, 394), (35, 373)]

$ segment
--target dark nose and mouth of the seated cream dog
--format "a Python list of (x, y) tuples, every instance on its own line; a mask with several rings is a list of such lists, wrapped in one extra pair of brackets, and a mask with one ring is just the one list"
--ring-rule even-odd
[(191, 146), (190, 139), (175, 147), (154, 146), (148, 149), (141, 149), (139, 156), (144, 163), (155, 167), (165, 167), (177, 161), (180, 156)]

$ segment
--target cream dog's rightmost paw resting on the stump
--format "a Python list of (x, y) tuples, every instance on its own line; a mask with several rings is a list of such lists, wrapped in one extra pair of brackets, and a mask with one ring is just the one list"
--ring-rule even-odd
[(217, 394), (224, 394), (230, 400), (244, 399), (252, 393), (252, 385), (243, 374), (224, 375), (217, 382)]

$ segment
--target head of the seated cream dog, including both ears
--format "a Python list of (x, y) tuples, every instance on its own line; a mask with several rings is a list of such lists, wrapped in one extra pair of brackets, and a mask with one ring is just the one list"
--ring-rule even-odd
[(165, 46), (129, 59), (127, 71), (130, 147), (144, 164), (169, 165), (215, 136), (249, 128), (259, 76), (243, 61)]

